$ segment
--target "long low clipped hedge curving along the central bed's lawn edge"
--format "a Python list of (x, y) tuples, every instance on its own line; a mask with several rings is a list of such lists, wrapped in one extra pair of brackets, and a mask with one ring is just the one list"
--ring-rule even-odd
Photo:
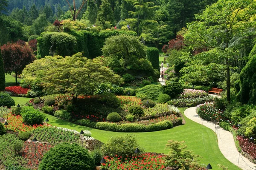
[(170, 129), (173, 127), (172, 122), (169, 120), (164, 120), (151, 125), (141, 125), (137, 123), (127, 123), (122, 125), (117, 125), (115, 123), (108, 122), (90, 122), (90, 120), (77, 120), (75, 122), (78, 125), (83, 125), (87, 127), (92, 127), (100, 130), (107, 130), (113, 132), (152, 132), (158, 130)]

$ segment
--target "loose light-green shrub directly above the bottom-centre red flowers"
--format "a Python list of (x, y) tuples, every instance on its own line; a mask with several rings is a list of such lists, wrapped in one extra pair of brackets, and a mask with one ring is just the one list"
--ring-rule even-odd
[(144, 149), (140, 147), (135, 136), (112, 136), (108, 142), (102, 146), (102, 151), (104, 155), (107, 156), (133, 156), (134, 150), (139, 148), (140, 152), (143, 153)]

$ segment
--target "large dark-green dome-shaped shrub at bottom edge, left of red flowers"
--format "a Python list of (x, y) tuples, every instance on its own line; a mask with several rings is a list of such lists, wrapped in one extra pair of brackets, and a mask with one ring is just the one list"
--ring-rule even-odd
[(93, 166), (93, 158), (84, 147), (61, 143), (44, 154), (38, 170), (91, 170)]

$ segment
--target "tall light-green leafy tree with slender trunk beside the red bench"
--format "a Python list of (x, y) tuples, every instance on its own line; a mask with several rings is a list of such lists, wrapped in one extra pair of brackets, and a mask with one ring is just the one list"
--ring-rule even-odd
[(207, 6), (202, 14), (197, 14), (197, 21), (188, 24), (185, 39), (194, 47), (217, 48), (220, 64), (226, 65), (227, 101), (230, 102), (230, 67), (238, 58), (237, 50), (241, 41), (249, 35), (256, 14), (256, 3), (253, 0), (221, 0)]

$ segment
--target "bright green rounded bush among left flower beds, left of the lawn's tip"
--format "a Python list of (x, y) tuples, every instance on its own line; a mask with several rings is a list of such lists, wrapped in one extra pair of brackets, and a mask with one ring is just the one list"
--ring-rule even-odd
[(41, 125), (45, 119), (44, 114), (32, 106), (24, 106), (20, 114), (23, 117), (23, 122), (27, 125)]

